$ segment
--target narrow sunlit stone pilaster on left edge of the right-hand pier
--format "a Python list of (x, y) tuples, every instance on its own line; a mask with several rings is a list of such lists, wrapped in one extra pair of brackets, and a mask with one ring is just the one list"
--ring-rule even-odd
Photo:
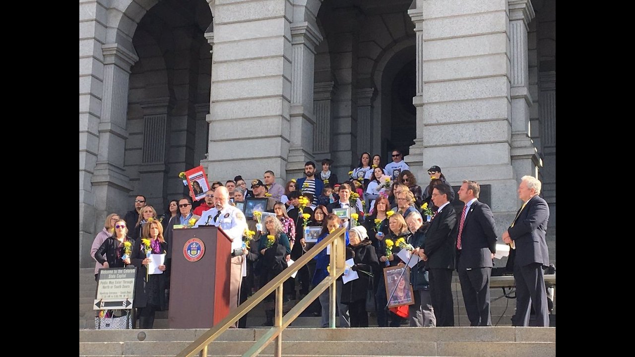
[[(410, 166), (410, 172), (415, 177), (420, 179), (427, 177), (427, 172), (424, 168), (424, 14), (422, 13), (422, 5), (418, 4), (416, 8), (408, 10), (408, 15), (415, 24), (415, 35), (417, 39), (417, 59), (415, 65), (417, 66), (417, 94), (412, 98), (412, 104), (415, 105), (417, 110), (417, 136), (415, 137), (415, 144), (410, 147), (408, 156), (404, 157), (404, 161)], [(391, 158), (387, 158), (388, 161)], [(425, 181), (424, 181), (425, 182)]]

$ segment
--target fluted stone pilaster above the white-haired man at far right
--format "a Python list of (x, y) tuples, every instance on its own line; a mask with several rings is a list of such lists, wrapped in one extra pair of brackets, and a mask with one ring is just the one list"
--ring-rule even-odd
[(528, 62), (528, 24), (535, 13), (530, 0), (509, 0), (509, 58), (511, 81), (512, 140), (511, 160), (516, 180), (524, 175), (537, 176), (542, 161), (530, 138), (530, 108)]

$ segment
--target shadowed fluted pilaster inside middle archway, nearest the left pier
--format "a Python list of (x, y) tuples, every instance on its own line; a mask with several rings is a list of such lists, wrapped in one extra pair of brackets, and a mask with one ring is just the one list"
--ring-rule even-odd
[(315, 83), (313, 92), (313, 114), (315, 128), (313, 131), (313, 154), (324, 159), (331, 153), (331, 98), (335, 91), (335, 83)]

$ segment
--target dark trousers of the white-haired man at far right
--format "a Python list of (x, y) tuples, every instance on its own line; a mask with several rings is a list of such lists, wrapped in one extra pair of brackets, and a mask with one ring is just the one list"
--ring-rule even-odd
[(514, 280), (516, 280), (516, 315), (512, 319), (512, 325), (529, 326), (529, 316), (533, 306), (536, 326), (549, 327), (547, 290), (542, 264), (515, 265)]

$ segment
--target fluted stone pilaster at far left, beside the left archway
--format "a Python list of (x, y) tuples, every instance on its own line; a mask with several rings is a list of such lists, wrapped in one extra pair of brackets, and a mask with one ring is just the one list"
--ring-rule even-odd
[[(137, 62), (135, 53), (120, 44), (104, 44), (104, 95), (99, 123), (99, 148), (95, 173), (91, 179), (98, 212), (130, 209), (130, 181), (124, 170), (126, 114), (130, 67)], [(99, 215), (98, 215), (99, 217)]]

